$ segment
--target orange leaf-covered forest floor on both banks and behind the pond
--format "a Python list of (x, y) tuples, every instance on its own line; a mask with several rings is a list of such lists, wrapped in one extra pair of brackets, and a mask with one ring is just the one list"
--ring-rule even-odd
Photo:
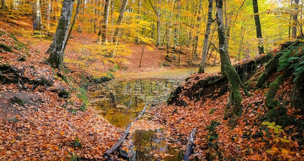
[[(83, 83), (82, 79), (102, 77), (109, 73), (109, 69), (117, 70), (111, 74), (119, 79), (129, 77), (129, 73), (135, 73), (131, 78), (136, 78), (136, 74), (161, 72), (187, 62), (186, 55), (183, 55), (182, 65), (175, 60), (167, 66), (166, 51), (149, 46), (143, 54), (142, 67), (138, 67), (142, 46), (124, 43), (119, 45), (121, 48), (117, 50), (115, 59), (112, 59), (113, 55), (105, 59), (106, 55), (96, 54), (97, 49), (105, 50), (96, 45), (96, 35), (74, 32), (67, 47), (64, 73), (72, 79), (66, 80), (60, 76), (61, 73), (44, 63), (51, 40), (39, 32), (33, 32), (30, 19), (20, 21), (18, 18), (8, 20), (1, 17), (0, 26), (1, 161), (63, 161), (77, 156), (82, 160), (105, 160), (102, 154), (116, 143), (123, 129), (109, 124), (92, 107), (87, 106), (89, 104), (84, 99), (83, 88), (79, 85)], [(258, 72), (264, 69), (265, 65)], [(194, 74), (182, 86), (185, 90), (191, 89), (208, 76), (210, 74)], [(276, 74), (273, 74), (269, 81), (275, 78)], [(285, 101), (291, 100), (296, 91), (293, 87), (292, 76), (287, 77), (279, 86), (275, 98), (286, 105)], [(242, 93), (243, 114), (229, 120), (223, 119), (228, 93), (217, 99), (196, 101), (181, 94), (180, 98), (186, 100), (186, 107), (161, 104), (149, 113), (153, 123), (164, 127), (164, 131), (169, 133), (169, 144), (179, 140), (180, 144), (176, 146), (182, 149), (186, 147), (190, 131), (197, 128), (192, 159), (303, 161), (304, 134), (299, 131), (301, 127), (281, 127), (271, 123), (267, 126), (265, 94), (268, 90), (266, 87), (250, 91), (253, 95), (250, 97)], [(63, 91), (69, 94), (62, 94)], [(195, 94), (198, 91), (190, 92)], [(291, 105), (287, 104), (286, 109), (288, 117), (304, 123), (303, 115)], [(154, 124), (143, 121), (142, 124), (135, 124), (135, 128), (153, 127)]]

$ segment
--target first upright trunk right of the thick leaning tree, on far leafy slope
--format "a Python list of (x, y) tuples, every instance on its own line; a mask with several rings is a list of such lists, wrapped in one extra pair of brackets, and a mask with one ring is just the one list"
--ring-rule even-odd
[(109, 24), (109, 14), (110, 14), (110, 3), (111, 0), (106, 0), (104, 4), (104, 12), (103, 12), (103, 25), (101, 31), (99, 31), (99, 35), (101, 33), (101, 41), (102, 43), (107, 43), (107, 30)]

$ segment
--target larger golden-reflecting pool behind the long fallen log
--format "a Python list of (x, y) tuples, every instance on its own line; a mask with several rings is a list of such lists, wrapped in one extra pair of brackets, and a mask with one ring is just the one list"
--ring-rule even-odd
[(94, 91), (93, 106), (107, 120), (119, 128), (125, 128), (140, 114), (147, 101), (164, 102), (169, 93), (183, 81), (135, 80), (111, 81), (100, 84)]

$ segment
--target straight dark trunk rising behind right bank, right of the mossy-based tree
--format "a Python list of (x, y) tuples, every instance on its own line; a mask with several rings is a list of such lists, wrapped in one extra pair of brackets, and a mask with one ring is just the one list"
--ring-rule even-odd
[(253, 0), (253, 12), (254, 12), (256, 37), (259, 39), (259, 43), (258, 43), (259, 54), (263, 54), (264, 53), (264, 46), (263, 46), (263, 41), (262, 41), (262, 31), (261, 31), (260, 17), (257, 14), (259, 12), (258, 5), (257, 5), (257, 0)]

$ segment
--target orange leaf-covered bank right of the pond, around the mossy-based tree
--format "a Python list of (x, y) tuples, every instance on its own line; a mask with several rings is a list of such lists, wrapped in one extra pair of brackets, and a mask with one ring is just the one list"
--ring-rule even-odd
[[(262, 66), (255, 77), (265, 70)], [(194, 74), (182, 84), (185, 91), (195, 83), (214, 74)], [(220, 75), (217, 73), (216, 75)], [(274, 81), (276, 73), (270, 76)], [(252, 78), (254, 79), (254, 78)], [(254, 81), (253, 81), (254, 83)], [(246, 97), (242, 93), (242, 115), (224, 120), (224, 109), (229, 94), (212, 100), (192, 100), (183, 92), (180, 100), (188, 104), (184, 106), (162, 104), (152, 110), (154, 120), (165, 126), (165, 131), (171, 134), (171, 141), (183, 140), (180, 146), (185, 146), (187, 137), (193, 128), (197, 129), (196, 147), (192, 159), (202, 160), (246, 160), (246, 161), (303, 161), (304, 133), (303, 115), (291, 104), (288, 104), (295, 93), (292, 76), (280, 85), (275, 99), (281, 100), (281, 105), (287, 104), (288, 117), (297, 120), (300, 125), (279, 126), (267, 122), (265, 105), (266, 93), (269, 87), (251, 91), (253, 96)], [(295, 92), (296, 91), (296, 92)], [(190, 91), (191, 92), (191, 91)], [(197, 91), (192, 91), (195, 93)]]

